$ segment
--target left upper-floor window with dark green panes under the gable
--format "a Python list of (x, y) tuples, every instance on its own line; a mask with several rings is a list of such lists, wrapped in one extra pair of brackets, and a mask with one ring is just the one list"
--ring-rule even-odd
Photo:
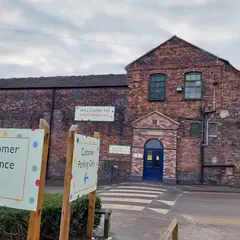
[(163, 101), (165, 100), (165, 74), (154, 74), (150, 76), (149, 82), (149, 100)]

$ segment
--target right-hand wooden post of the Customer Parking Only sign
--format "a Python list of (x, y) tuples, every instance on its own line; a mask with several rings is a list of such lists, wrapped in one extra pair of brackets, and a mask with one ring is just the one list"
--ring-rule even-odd
[[(94, 138), (99, 139), (100, 133), (94, 132)], [(89, 194), (89, 203), (88, 203), (88, 229), (87, 229), (87, 237), (93, 237), (93, 229), (94, 229), (94, 215), (95, 215), (95, 203), (96, 203), (96, 191), (93, 191)]]

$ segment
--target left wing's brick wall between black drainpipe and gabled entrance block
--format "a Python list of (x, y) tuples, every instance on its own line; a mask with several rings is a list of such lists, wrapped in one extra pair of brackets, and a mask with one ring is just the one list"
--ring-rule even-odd
[[(75, 106), (115, 106), (114, 122), (75, 122)], [(81, 133), (93, 136), (94, 131), (100, 132), (100, 171), (101, 179), (107, 178), (109, 164), (105, 161), (116, 161), (122, 171), (121, 177), (127, 177), (130, 172), (131, 159), (129, 155), (109, 154), (110, 144), (130, 145), (128, 127), (125, 123), (125, 108), (127, 106), (127, 89), (124, 88), (89, 88), (61, 89), (55, 93), (53, 118), (53, 134), (51, 143), (51, 158), (49, 178), (61, 179), (65, 171), (66, 136), (71, 124), (78, 124)], [(131, 136), (131, 135), (130, 135)], [(108, 162), (109, 163), (109, 162)]]

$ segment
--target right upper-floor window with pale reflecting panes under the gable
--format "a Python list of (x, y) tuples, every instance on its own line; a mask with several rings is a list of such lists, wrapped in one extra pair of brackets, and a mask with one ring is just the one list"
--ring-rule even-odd
[(185, 73), (184, 98), (189, 100), (202, 98), (202, 73)]

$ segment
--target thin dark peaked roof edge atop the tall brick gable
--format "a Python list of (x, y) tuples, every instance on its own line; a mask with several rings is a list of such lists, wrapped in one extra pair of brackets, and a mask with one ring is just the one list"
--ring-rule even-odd
[(182, 39), (182, 38), (180, 38), (180, 37), (178, 37), (178, 36), (176, 36), (176, 35), (172, 36), (171, 38), (169, 38), (169, 39), (166, 40), (165, 42), (161, 43), (161, 44), (158, 45), (157, 47), (151, 49), (151, 50), (148, 51), (147, 53), (143, 54), (142, 56), (140, 56), (140, 57), (137, 58), (136, 60), (134, 60), (134, 61), (132, 61), (131, 63), (129, 63), (129, 64), (125, 67), (125, 70), (127, 70), (127, 68), (128, 68), (130, 65), (132, 65), (133, 63), (139, 61), (139, 60), (142, 59), (143, 57), (145, 57), (145, 56), (147, 56), (148, 54), (154, 52), (156, 49), (158, 49), (158, 48), (160, 48), (161, 46), (165, 45), (166, 43), (170, 42), (170, 41), (173, 40), (174, 38), (176, 38), (176, 39), (178, 39), (178, 40), (180, 40), (180, 41), (183, 41), (183, 42), (191, 45), (191, 46), (194, 47), (194, 48), (197, 48), (197, 49), (199, 49), (199, 50), (201, 50), (201, 51), (204, 51), (205, 53), (207, 53), (207, 54), (215, 57), (215, 58), (218, 59), (219, 61), (224, 62), (225, 64), (231, 66), (233, 69), (235, 69), (235, 70), (237, 70), (237, 71), (239, 72), (239, 70), (236, 69), (235, 67), (233, 67), (233, 65), (231, 65), (228, 60), (225, 60), (225, 59), (223, 59), (223, 58), (220, 58), (220, 57), (218, 57), (218, 56), (216, 56), (216, 55), (214, 55), (214, 54), (212, 54), (212, 53), (210, 53), (210, 52), (208, 52), (208, 51), (206, 51), (206, 50), (204, 50), (204, 49), (202, 49), (202, 48), (200, 48), (200, 47), (198, 47), (198, 46), (196, 46), (196, 45), (194, 45), (194, 44), (192, 44), (192, 43), (190, 43), (190, 42), (187, 42), (186, 40), (184, 40), (184, 39)]

